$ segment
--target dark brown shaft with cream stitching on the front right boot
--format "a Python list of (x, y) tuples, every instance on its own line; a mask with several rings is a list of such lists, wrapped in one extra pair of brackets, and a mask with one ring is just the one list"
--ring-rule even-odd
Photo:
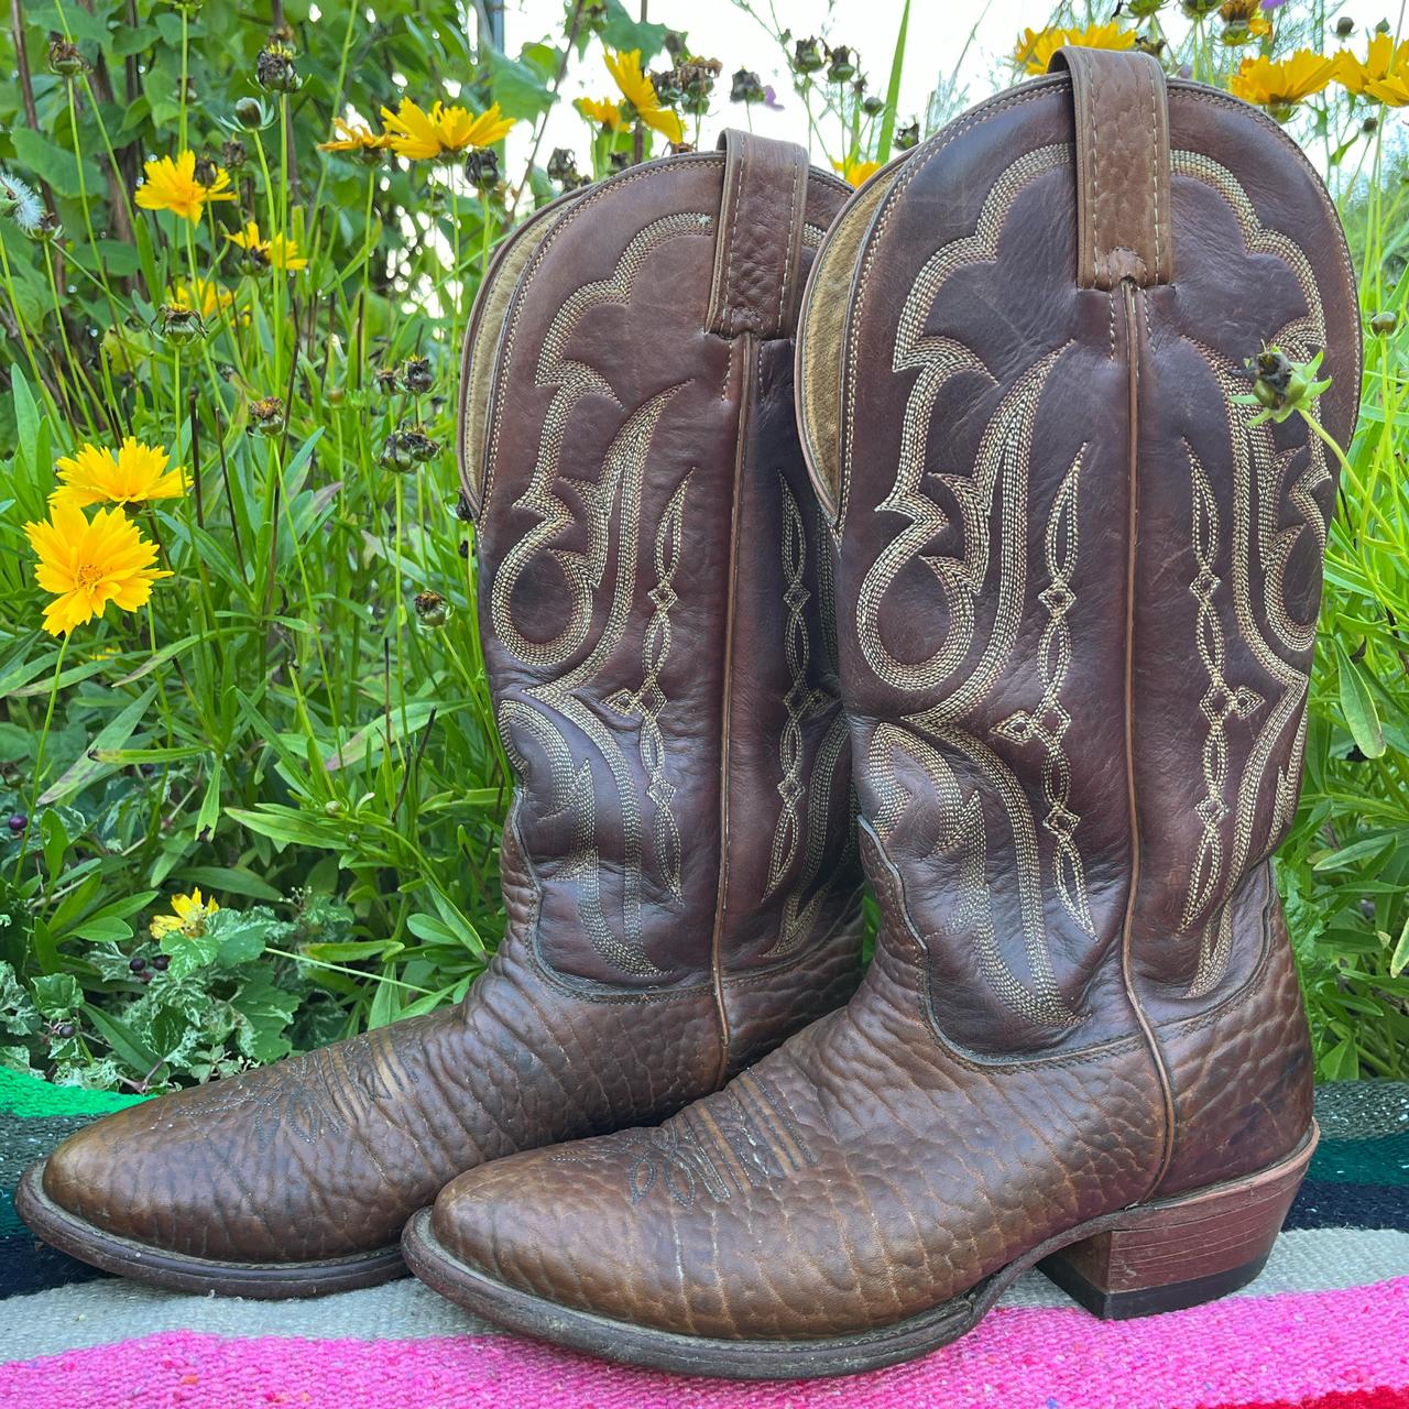
[(1264, 344), (1324, 349), (1309, 409), (1346, 442), (1360, 379), (1295, 145), (1209, 89), (1165, 100), (1153, 63), (1074, 62), (859, 193), (800, 352), (878, 889), (941, 1030), (1005, 1057), (1260, 972), (1248, 888), (1295, 810), (1336, 466), (1234, 397)]

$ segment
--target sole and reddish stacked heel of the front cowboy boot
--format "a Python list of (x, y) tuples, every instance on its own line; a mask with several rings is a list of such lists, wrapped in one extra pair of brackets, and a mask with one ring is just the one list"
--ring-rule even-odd
[(957, 1340), (1031, 1267), (1103, 1320), (1181, 1310), (1236, 1292), (1267, 1262), (1317, 1137), (1313, 1122), (1291, 1155), (1260, 1174), (1092, 1219), (1038, 1244), (962, 1296), (890, 1326), (819, 1340), (681, 1336), (559, 1306), (459, 1261), (437, 1240), (430, 1209), (407, 1223), (402, 1251), (427, 1286), (473, 1315), (603, 1360), (721, 1379), (854, 1375)]

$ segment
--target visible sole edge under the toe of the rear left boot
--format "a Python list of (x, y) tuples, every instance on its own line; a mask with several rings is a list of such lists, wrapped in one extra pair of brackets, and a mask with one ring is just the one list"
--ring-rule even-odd
[(25, 1169), (14, 1191), (15, 1212), (30, 1230), (80, 1262), (148, 1286), (170, 1292), (216, 1292), (220, 1296), (280, 1301), (379, 1286), (406, 1275), (406, 1264), (396, 1246), (313, 1262), (218, 1262), (168, 1253), (135, 1239), (106, 1233), (61, 1208), (44, 1192), (45, 1162)]

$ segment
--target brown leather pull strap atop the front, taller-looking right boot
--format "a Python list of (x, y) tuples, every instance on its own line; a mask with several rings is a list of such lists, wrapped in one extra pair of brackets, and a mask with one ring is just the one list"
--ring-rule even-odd
[(1058, 49), (1076, 118), (1076, 282), (1115, 289), (1169, 283), (1169, 106), (1148, 54)]

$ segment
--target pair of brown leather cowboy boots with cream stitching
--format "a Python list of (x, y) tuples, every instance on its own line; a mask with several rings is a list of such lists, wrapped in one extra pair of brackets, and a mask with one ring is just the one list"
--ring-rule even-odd
[[(1316, 1138), (1268, 857), (1336, 466), (1244, 359), (1323, 352), (1348, 440), (1354, 280), (1270, 120), (1057, 66), (844, 209), (730, 134), (506, 247), (464, 427), (504, 947), (449, 1014), (85, 1131), (42, 1236), (325, 1289), (434, 1196), (402, 1247), (461, 1305), (766, 1378), (1033, 1265), (1103, 1316), (1255, 1275)], [(875, 958), (761, 1057), (855, 979), (848, 758)]]

